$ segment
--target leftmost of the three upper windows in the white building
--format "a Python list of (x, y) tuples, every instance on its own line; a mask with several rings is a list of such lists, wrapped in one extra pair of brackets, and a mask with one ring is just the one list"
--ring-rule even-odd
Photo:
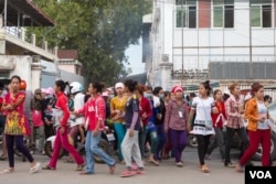
[(197, 1), (176, 0), (177, 28), (197, 28)]

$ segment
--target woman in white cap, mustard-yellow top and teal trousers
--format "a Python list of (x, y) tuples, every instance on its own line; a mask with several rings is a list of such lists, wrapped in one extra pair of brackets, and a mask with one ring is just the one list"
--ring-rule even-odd
[(115, 90), (117, 96), (114, 97), (110, 101), (110, 112), (114, 122), (114, 129), (118, 139), (118, 150), (119, 150), (119, 161), (123, 162), (124, 158), (121, 154), (121, 142), (126, 134), (126, 128), (124, 127), (124, 118), (125, 118), (125, 106), (128, 97), (124, 94), (124, 84), (117, 83), (115, 85)]

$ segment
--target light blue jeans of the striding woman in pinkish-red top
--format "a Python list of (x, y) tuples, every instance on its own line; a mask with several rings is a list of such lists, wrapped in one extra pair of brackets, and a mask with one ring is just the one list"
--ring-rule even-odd
[(108, 166), (115, 164), (115, 160), (106, 154), (99, 147), (98, 142), (102, 138), (102, 131), (98, 131), (96, 137), (93, 136), (93, 131), (88, 130), (86, 134), (85, 152), (86, 152), (86, 173), (94, 174), (94, 158), (93, 154), (97, 154)]

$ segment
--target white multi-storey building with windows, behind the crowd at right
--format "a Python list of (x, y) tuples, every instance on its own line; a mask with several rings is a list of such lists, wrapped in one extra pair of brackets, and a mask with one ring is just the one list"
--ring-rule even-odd
[[(276, 0), (153, 0), (148, 83), (169, 89), (212, 79), (212, 62), (246, 63), (236, 73), (246, 73), (247, 82), (259, 79), (254, 77), (259, 65), (253, 64), (276, 61), (275, 7)], [(276, 64), (274, 69), (268, 72), (275, 73)]]

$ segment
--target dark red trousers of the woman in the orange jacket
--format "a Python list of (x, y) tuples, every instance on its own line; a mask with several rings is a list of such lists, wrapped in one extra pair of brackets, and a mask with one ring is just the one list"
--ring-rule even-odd
[(258, 144), (262, 144), (263, 155), (262, 155), (262, 165), (269, 166), (270, 165), (270, 130), (257, 130), (257, 131), (248, 131), (250, 136), (250, 147), (244, 152), (240, 163), (241, 165), (245, 165), (248, 160), (256, 153), (258, 149)]

